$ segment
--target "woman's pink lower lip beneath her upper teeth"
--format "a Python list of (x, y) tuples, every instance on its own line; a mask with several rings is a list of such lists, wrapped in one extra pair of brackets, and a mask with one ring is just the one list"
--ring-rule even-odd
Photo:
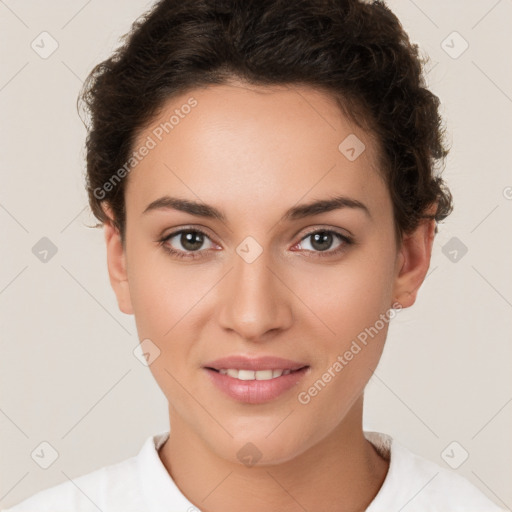
[(278, 398), (297, 385), (308, 369), (304, 367), (270, 380), (239, 380), (208, 368), (206, 371), (214, 385), (229, 397), (248, 404), (262, 404)]

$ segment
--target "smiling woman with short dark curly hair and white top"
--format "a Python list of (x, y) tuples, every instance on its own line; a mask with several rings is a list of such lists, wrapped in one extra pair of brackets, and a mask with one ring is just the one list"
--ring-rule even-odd
[(439, 100), (383, 3), (162, 0), (81, 99), (170, 432), (10, 510), (499, 510), (362, 428), (452, 210)]

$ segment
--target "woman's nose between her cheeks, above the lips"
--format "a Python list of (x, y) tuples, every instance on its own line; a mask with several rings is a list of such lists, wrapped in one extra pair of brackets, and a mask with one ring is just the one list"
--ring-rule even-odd
[[(233, 268), (220, 288), (223, 329), (250, 342), (275, 337), (292, 324), (291, 296), (285, 276), (263, 251), (251, 263), (235, 253)], [(282, 268), (282, 267), (281, 267)]]

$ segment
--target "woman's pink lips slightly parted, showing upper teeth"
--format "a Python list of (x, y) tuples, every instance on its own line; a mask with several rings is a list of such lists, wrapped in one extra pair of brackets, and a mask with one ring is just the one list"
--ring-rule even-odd
[(262, 404), (298, 384), (309, 365), (271, 356), (231, 356), (211, 361), (204, 369), (215, 387), (231, 399)]

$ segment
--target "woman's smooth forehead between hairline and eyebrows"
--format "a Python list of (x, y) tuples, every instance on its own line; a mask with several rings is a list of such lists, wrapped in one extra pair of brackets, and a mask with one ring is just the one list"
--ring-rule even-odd
[(334, 190), (373, 200), (387, 192), (373, 135), (306, 86), (191, 90), (138, 134), (133, 149), (144, 145), (126, 189), (127, 209), (139, 213), (164, 193), (270, 208)]

